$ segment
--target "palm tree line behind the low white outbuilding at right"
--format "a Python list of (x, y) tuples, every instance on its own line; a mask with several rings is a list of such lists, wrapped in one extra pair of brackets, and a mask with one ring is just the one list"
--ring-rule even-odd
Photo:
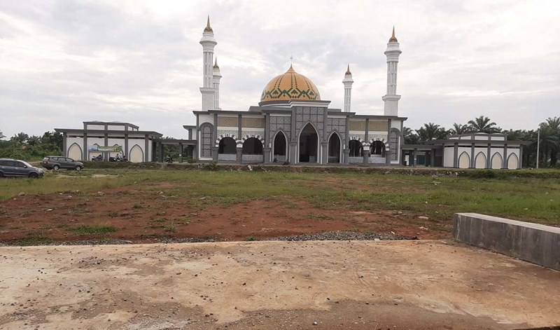
[(479, 116), (466, 124), (454, 123), (450, 129), (435, 123), (423, 124), (418, 130), (403, 128), (405, 144), (425, 144), (432, 139), (446, 139), (449, 135), (472, 132), (501, 133), (510, 141), (532, 142), (523, 146), (523, 167), (535, 167), (537, 163), (537, 139), (540, 133), (539, 167), (560, 167), (560, 117), (548, 118), (540, 123), (538, 130), (503, 130), (486, 116)]

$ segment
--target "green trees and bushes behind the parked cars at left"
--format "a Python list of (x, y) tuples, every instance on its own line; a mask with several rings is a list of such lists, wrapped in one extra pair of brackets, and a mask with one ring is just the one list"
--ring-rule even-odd
[(0, 131), (0, 158), (40, 160), (45, 156), (62, 155), (62, 134), (45, 132), (42, 136), (20, 132), (9, 139)]

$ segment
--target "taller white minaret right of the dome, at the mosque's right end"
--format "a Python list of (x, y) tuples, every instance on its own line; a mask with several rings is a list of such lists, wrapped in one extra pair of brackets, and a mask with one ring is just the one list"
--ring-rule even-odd
[(393, 27), (393, 35), (387, 43), (387, 95), (381, 97), (384, 104), (385, 116), (398, 116), (398, 100), (400, 95), (397, 95), (397, 67), (398, 57), (402, 53), (398, 46), (397, 38), (395, 37), (395, 27)]

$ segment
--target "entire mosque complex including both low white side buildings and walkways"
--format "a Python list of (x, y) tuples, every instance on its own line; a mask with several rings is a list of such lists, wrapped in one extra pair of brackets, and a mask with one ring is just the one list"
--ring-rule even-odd
[[(330, 108), (317, 86), (293, 66), (265, 85), (258, 105), (247, 111), (220, 108), (218, 62), (210, 18), (200, 40), (203, 54), (201, 110), (193, 111), (196, 125), (183, 125), (188, 139), (162, 139), (162, 134), (139, 130), (132, 123), (85, 121), (83, 128), (56, 128), (63, 134), (64, 156), (90, 160), (120, 154), (133, 162), (164, 159), (162, 145), (179, 147), (183, 158), (217, 163), (362, 164), (455, 168), (521, 168), (524, 144), (503, 134), (474, 132), (404, 144), (398, 115), (397, 72), (400, 46), (395, 29), (388, 40), (387, 90), (381, 97), (382, 115), (356, 114), (351, 109), (352, 74), (346, 69), (344, 109)], [(342, 88), (341, 88), (342, 89)], [(342, 90), (341, 90), (342, 92)], [(183, 157), (184, 156), (184, 157)]]

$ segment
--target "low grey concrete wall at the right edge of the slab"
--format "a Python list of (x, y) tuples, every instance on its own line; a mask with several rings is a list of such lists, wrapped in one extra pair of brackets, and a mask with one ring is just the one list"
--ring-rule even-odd
[(477, 213), (456, 213), (453, 238), (560, 270), (560, 228)]

